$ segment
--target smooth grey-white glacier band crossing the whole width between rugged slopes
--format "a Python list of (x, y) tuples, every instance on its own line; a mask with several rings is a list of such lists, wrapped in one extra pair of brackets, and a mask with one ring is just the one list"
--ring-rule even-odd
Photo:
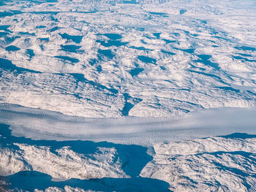
[(10, 125), (15, 136), (108, 141), (147, 147), (159, 142), (177, 142), (234, 132), (256, 134), (255, 117), (256, 108), (224, 108), (168, 118), (83, 118), (0, 104), (0, 123)]

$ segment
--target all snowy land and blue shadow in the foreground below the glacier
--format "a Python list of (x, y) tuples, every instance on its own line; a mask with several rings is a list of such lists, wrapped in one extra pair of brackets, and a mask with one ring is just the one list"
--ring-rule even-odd
[(33, 140), (12, 136), (9, 126), (0, 126), (0, 187), (16, 191), (256, 191), (255, 134), (156, 143), (147, 150), (110, 142)]

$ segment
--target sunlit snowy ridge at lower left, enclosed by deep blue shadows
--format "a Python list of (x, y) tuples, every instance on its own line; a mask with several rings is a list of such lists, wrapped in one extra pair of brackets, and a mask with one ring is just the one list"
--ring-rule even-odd
[(71, 178), (92, 179), (103, 177), (127, 177), (121, 169), (114, 148), (99, 147), (93, 155), (75, 153), (69, 147), (50, 152), (50, 147), (26, 144), (15, 144), (20, 150), (11, 152), (1, 148), (0, 174), (10, 175), (20, 171), (37, 171), (50, 174), (58, 180)]

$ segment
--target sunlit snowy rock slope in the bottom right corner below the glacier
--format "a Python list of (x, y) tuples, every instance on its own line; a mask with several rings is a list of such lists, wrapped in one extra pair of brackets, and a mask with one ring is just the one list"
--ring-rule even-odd
[(140, 176), (165, 180), (173, 191), (255, 191), (255, 147), (255, 137), (157, 144)]

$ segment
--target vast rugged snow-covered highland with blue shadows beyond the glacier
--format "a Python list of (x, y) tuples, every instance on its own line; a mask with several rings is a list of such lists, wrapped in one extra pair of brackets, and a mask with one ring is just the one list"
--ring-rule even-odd
[(1, 102), (94, 118), (255, 106), (255, 1), (3, 2)]

